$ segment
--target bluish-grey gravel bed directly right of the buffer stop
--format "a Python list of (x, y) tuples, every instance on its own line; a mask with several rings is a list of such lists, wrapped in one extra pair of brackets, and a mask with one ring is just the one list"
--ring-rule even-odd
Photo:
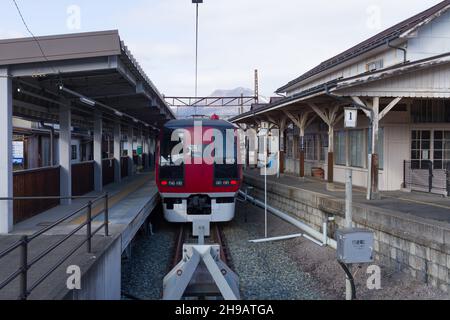
[[(240, 277), (241, 295), (245, 300), (312, 300), (324, 299), (326, 294), (310, 276), (298, 268), (286, 248), (295, 240), (250, 243), (264, 237), (264, 211), (238, 202), (235, 220), (224, 226), (224, 234)], [(262, 211), (262, 212), (261, 212)], [(247, 214), (247, 222), (245, 222)], [(269, 217), (269, 237), (298, 233), (285, 224), (278, 229), (278, 218)], [(275, 227), (275, 228), (274, 228)], [(283, 233), (280, 233), (282, 231)]]

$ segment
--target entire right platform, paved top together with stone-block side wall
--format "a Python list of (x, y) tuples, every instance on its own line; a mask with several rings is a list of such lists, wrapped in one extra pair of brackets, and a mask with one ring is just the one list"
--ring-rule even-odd
[[(325, 181), (289, 174), (267, 180), (270, 206), (329, 237), (345, 228), (343, 184), (330, 188)], [(264, 199), (259, 170), (246, 170), (244, 183), (243, 190), (250, 186), (251, 196)], [(373, 232), (375, 263), (450, 292), (450, 199), (406, 191), (380, 195), (380, 200), (369, 201), (365, 188), (353, 189), (353, 225)]]

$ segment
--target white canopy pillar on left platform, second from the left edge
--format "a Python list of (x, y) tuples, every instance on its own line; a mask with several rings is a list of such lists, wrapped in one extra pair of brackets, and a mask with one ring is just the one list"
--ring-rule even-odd
[[(63, 101), (68, 104), (67, 101)], [(59, 184), (61, 197), (72, 196), (72, 112), (70, 106), (59, 108)], [(71, 199), (61, 200), (62, 205), (69, 205)]]

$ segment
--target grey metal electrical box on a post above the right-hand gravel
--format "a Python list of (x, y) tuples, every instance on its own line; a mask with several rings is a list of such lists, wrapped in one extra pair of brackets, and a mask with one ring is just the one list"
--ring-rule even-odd
[(373, 232), (364, 229), (336, 231), (337, 259), (346, 264), (373, 262)]

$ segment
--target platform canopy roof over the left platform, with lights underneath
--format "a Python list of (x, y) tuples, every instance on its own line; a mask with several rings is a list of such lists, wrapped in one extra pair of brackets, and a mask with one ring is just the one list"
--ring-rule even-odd
[(97, 111), (150, 129), (175, 118), (115, 30), (0, 40), (0, 68), (13, 78), (16, 117), (57, 122), (71, 102), (77, 127)]

